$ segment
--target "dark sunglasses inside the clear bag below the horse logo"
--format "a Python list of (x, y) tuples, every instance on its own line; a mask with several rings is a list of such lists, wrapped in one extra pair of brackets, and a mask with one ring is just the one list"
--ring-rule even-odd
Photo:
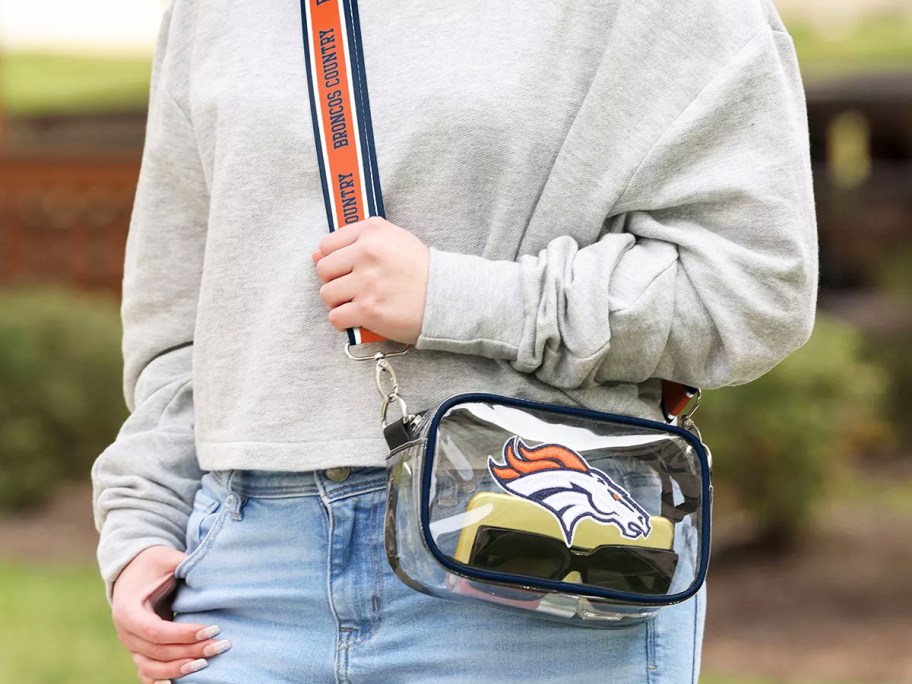
[(620, 544), (577, 550), (543, 534), (479, 526), (468, 565), (555, 581), (578, 572), (583, 584), (629, 594), (663, 596), (671, 587), (678, 554)]

